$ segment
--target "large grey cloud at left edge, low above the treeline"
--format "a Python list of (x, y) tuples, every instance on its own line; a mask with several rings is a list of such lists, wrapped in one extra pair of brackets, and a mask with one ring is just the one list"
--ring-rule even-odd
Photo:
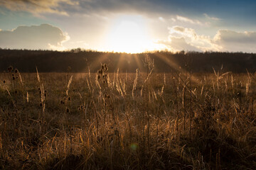
[(2, 48), (64, 50), (62, 43), (68, 39), (67, 33), (49, 24), (18, 26), (14, 30), (0, 31)]

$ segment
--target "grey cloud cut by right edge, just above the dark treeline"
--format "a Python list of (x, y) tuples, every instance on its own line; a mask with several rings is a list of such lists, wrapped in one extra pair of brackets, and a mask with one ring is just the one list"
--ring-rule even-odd
[(218, 30), (213, 40), (222, 47), (223, 51), (256, 52), (256, 32)]

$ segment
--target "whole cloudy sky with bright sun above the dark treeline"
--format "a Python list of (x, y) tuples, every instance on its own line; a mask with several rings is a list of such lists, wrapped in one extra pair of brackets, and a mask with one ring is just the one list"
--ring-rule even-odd
[(0, 47), (256, 52), (255, 0), (0, 0)]

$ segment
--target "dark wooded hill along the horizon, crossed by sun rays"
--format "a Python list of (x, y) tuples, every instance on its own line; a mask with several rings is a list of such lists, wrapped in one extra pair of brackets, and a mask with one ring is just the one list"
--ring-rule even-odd
[(57, 52), (47, 50), (0, 50), (0, 71), (7, 71), (10, 65), (20, 72), (97, 72), (106, 63), (109, 72), (119, 68), (120, 72), (146, 71), (145, 59), (154, 60), (155, 72), (187, 70), (191, 72), (256, 72), (256, 54), (242, 52), (149, 52), (127, 54), (71, 50)]

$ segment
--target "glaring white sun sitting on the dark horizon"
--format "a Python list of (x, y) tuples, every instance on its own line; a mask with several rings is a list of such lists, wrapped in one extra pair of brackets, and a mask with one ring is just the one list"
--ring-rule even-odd
[(151, 40), (141, 17), (117, 18), (107, 36), (108, 49), (114, 52), (139, 53), (151, 49)]

